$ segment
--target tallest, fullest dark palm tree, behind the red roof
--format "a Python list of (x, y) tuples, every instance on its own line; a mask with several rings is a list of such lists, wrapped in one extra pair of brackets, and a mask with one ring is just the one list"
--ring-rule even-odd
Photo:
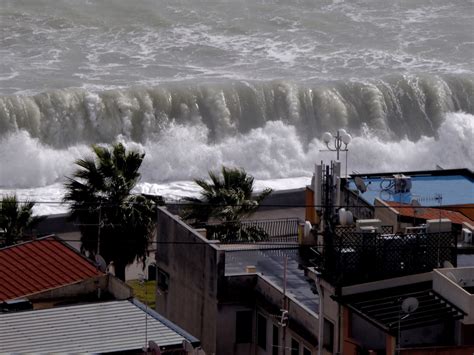
[(125, 280), (125, 267), (148, 255), (155, 203), (133, 195), (144, 153), (127, 152), (121, 143), (110, 149), (92, 146), (94, 158), (79, 159), (79, 167), (65, 183), (64, 201), (71, 203), (71, 219), (81, 231), (81, 252), (113, 261), (115, 275)]

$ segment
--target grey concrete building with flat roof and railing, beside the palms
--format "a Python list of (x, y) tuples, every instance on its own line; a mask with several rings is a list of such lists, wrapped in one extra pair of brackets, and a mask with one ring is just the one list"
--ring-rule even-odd
[(195, 230), (162, 207), (158, 223), (157, 310), (199, 337), (206, 352), (316, 353), (318, 296), (301, 266), (300, 221), (245, 221), (243, 228), (269, 237), (250, 244), (212, 240), (209, 230)]

